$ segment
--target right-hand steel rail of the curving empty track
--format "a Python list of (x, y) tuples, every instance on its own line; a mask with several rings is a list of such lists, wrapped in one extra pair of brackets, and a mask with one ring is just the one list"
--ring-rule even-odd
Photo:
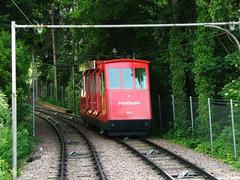
[(98, 158), (98, 155), (95, 151), (95, 148), (94, 146), (91, 144), (90, 140), (84, 135), (84, 133), (79, 129), (77, 128), (76, 126), (74, 126), (74, 124), (72, 124), (71, 122), (69, 122), (68, 120), (66, 119), (71, 119), (71, 118), (67, 118), (67, 117), (61, 117), (59, 116), (59, 114), (56, 113), (56, 111), (53, 111), (51, 110), (50, 112), (48, 111), (48, 109), (45, 109), (44, 110), (40, 110), (41, 112), (44, 112), (50, 116), (54, 116), (54, 117), (57, 117), (57, 118), (60, 118), (61, 120), (63, 120), (64, 122), (68, 123), (71, 127), (73, 127), (78, 133), (80, 136), (83, 137), (83, 139), (85, 140), (87, 146), (88, 146), (88, 149), (90, 150), (91, 154), (92, 154), (92, 157), (96, 163), (96, 166), (97, 166), (97, 171), (98, 171), (98, 174), (99, 174), (99, 179), (101, 180), (106, 180), (107, 178), (105, 177), (105, 174), (103, 172), (103, 168), (101, 166), (101, 163), (100, 163), (100, 160)]

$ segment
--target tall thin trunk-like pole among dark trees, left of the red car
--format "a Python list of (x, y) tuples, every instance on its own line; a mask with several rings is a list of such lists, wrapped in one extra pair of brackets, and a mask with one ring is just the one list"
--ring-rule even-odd
[[(54, 14), (55, 14), (55, 6), (52, 4), (52, 25), (54, 25)], [(52, 48), (53, 48), (53, 69), (54, 69), (54, 95), (55, 100), (57, 101), (57, 60), (56, 60), (56, 47), (55, 47), (55, 29), (52, 29)]]

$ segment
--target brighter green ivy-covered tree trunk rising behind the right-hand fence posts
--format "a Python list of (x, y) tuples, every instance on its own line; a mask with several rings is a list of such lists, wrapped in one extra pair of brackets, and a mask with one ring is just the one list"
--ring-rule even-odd
[[(204, 0), (197, 0), (197, 22), (211, 21), (208, 12), (208, 2)], [(196, 40), (194, 42), (194, 80), (196, 83), (196, 94), (198, 96), (199, 106), (197, 121), (197, 128), (205, 134), (208, 130), (208, 109), (207, 98), (214, 95), (213, 77), (209, 76), (210, 66), (213, 62), (214, 54), (214, 40), (208, 38), (213, 35), (213, 31), (205, 27), (198, 27), (196, 32)], [(206, 136), (202, 136), (206, 137)]]

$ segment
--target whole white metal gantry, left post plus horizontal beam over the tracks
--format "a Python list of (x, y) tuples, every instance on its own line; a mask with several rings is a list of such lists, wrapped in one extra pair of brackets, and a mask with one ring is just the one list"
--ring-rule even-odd
[(119, 24), (119, 25), (18, 25), (11, 22), (12, 36), (12, 163), (13, 179), (17, 179), (17, 94), (16, 94), (16, 28), (153, 28), (153, 27), (195, 27), (195, 26), (226, 26), (240, 25), (239, 22), (204, 22), (204, 23), (176, 23), (176, 24)]

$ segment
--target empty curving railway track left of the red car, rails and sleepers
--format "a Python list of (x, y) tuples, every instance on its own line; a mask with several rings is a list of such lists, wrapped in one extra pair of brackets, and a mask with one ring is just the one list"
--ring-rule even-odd
[(43, 109), (37, 111), (62, 134), (61, 138), (65, 144), (64, 162), (67, 164), (65, 168), (59, 168), (59, 174), (64, 174), (63, 179), (106, 179), (94, 147), (83, 130), (69, 121), (70, 116), (62, 117), (56, 112)]

